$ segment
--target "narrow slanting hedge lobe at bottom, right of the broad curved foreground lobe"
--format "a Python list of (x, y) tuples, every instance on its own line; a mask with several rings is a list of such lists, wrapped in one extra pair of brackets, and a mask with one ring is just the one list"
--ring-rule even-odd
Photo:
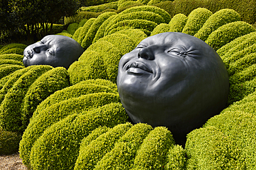
[[(113, 129), (109, 129), (109, 131), (91, 141), (89, 145), (82, 143), (74, 169), (93, 169), (95, 164), (97, 164), (106, 153), (113, 149), (115, 142), (121, 138), (131, 126), (131, 123), (116, 125)], [(95, 169), (97, 169), (97, 167)]]

